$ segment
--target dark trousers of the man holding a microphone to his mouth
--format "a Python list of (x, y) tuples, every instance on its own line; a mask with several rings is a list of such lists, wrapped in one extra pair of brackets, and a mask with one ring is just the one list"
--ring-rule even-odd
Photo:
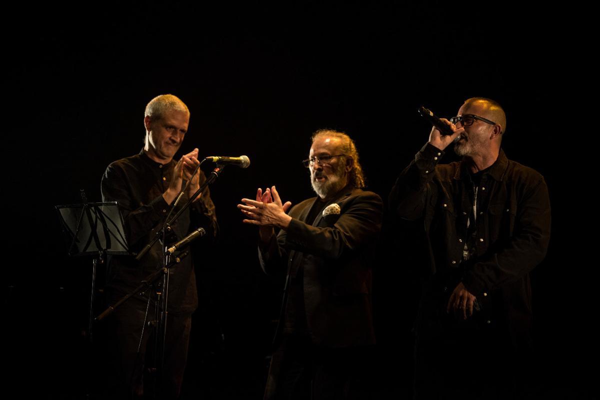
[(530, 347), (517, 349), (502, 326), (451, 315), (423, 325), (415, 346), (415, 399), (527, 398)]

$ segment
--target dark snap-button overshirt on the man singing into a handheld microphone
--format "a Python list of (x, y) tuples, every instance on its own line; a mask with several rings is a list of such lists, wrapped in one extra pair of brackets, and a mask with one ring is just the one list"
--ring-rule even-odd
[[(443, 151), (431, 144), (416, 154), (390, 193), (392, 213), (400, 219), (424, 220), (430, 249), (427, 275), (440, 290), (449, 296), (462, 281), (487, 306), (485, 322), (501, 317), (528, 325), (529, 272), (544, 258), (550, 239), (544, 178), (500, 150), (475, 183), (477, 215), (471, 217), (475, 227), (467, 232), (474, 183), (464, 162), (437, 165), (442, 156)], [(463, 262), (466, 243), (471, 254)], [(445, 306), (440, 302), (439, 307)]]

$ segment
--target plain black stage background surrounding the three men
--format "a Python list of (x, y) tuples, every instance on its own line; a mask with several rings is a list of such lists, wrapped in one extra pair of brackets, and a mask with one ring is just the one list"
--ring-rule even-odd
[[(239, 199), (272, 184), (293, 204), (313, 196), (300, 161), (320, 128), (355, 139), (369, 189), (386, 199), (427, 140), (416, 109), (451, 117), (472, 96), (503, 105), (506, 154), (541, 172), (550, 190), (550, 249), (533, 272), (540, 362), (532, 374), (548, 398), (591, 396), (598, 274), (586, 165), (594, 149), (564, 117), (586, 75), (573, 56), (578, 40), (557, 23), (568, 14), (530, 7), (108, 2), (7, 14), (9, 392), (82, 398), (88, 372), (101, 377), (101, 357), (87, 356), (82, 335), (91, 260), (67, 257), (54, 206), (79, 202), (80, 189), (100, 201), (106, 166), (142, 147), (146, 103), (173, 93), (191, 110), (180, 153), (251, 159), (211, 187), (221, 237), (197, 266), (185, 397), (262, 395), (280, 287), (260, 272), (256, 229), (242, 225)], [(406, 257), (375, 271), (380, 398), (410, 394), (415, 254), (401, 250)]]

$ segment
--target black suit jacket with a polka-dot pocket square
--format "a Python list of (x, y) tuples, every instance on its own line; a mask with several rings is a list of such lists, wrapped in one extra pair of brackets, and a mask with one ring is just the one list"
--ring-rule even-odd
[(338, 204), (340, 214), (321, 213), (313, 223), (307, 222), (316, 201), (307, 199), (290, 210), (287, 231), (279, 232), (260, 252), (263, 270), (276, 274), (286, 271), (287, 265), (289, 277), (303, 269), (305, 311), (315, 344), (374, 344), (371, 266), (381, 230), (381, 198), (346, 186), (328, 203)]

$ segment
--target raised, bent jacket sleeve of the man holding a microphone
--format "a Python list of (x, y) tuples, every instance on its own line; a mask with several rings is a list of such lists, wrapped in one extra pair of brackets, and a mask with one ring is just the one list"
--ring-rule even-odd
[(436, 165), (444, 152), (433, 144), (425, 146), (415, 154), (412, 160), (396, 180), (388, 197), (392, 215), (407, 220), (421, 218), (425, 212), (425, 201), (433, 185)]

